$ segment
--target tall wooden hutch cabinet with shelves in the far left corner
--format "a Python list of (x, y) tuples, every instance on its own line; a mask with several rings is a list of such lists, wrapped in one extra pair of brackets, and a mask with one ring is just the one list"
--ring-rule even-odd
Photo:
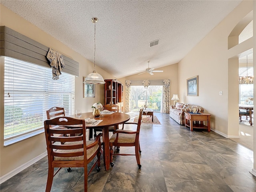
[(105, 79), (105, 105), (116, 104), (123, 111), (123, 84), (116, 79)]

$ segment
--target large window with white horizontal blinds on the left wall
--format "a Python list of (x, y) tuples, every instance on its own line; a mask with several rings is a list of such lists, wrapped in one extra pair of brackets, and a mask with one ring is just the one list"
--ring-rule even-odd
[(51, 68), (5, 57), (4, 141), (42, 132), (46, 110), (53, 106), (73, 114), (74, 93), (74, 75), (62, 72), (59, 80), (52, 80)]

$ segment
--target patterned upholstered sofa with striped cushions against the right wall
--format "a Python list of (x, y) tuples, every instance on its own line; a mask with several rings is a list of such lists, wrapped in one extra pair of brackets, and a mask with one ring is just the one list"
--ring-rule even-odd
[(185, 124), (185, 114), (184, 112), (192, 112), (192, 106), (198, 107), (198, 112), (204, 112), (204, 108), (195, 104), (184, 104), (177, 102), (176, 105), (171, 105), (170, 107), (170, 117), (173, 118), (178, 124)]

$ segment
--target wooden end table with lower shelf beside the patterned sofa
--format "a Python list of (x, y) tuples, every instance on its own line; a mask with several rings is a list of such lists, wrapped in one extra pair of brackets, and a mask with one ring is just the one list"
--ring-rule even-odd
[[(190, 131), (193, 131), (193, 128), (201, 128), (208, 129), (208, 132), (210, 132), (210, 116), (208, 113), (193, 114), (192, 112), (185, 112), (185, 126), (189, 127)], [(207, 121), (207, 126), (204, 125), (204, 121)]]

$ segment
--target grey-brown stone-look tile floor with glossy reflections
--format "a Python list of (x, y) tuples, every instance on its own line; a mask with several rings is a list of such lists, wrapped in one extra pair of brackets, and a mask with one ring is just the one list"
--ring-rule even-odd
[[(168, 114), (155, 114), (161, 125), (142, 124), (139, 170), (135, 156), (114, 156), (110, 171), (92, 171), (88, 192), (255, 192), (253, 152), (215, 132), (180, 126)], [(132, 119), (130, 121), (133, 121)], [(120, 152), (134, 148), (120, 148)], [(0, 186), (1, 192), (44, 192), (47, 158)], [(84, 191), (82, 168), (62, 169), (52, 192)]]

